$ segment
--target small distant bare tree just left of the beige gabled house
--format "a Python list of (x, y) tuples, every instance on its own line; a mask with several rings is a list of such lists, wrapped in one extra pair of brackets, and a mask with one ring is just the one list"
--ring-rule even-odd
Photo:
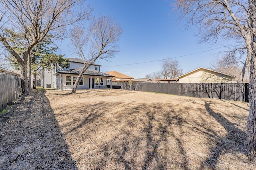
[(167, 78), (176, 78), (182, 75), (182, 69), (180, 68), (179, 62), (174, 59), (166, 59), (162, 62), (161, 75)]

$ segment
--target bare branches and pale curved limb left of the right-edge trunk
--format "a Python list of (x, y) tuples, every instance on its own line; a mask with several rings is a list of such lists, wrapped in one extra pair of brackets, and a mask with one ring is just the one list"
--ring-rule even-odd
[(244, 77), (252, 53), (248, 0), (176, 0), (175, 6), (187, 27), (198, 26), (200, 42), (226, 43), (226, 58), (244, 64)]

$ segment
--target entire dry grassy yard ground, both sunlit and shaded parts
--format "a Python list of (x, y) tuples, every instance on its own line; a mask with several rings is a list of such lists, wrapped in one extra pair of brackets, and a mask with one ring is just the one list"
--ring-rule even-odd
[(249, 104), (128, 90), (33, 90), (0, 115), (0, 169), (255, 169)]

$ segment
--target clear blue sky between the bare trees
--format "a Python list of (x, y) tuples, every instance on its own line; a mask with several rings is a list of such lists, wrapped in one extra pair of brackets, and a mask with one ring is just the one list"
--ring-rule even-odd
[[(194, 35), (196, 27), (186, 30), (182, 23), (175, 20), (177, 16), (172, 13), (170, 0), (86, 2), (94, 8), (93, 16), (111, 16), (123, 29), (119, 41), (120, 53), (108, 62), (98, 61), (102, 65), (101, 72), (116, 70), (134, 78), (144, 78), (146, 74), (161, 70), (162, 61), (157, 60), (178, 57), (176, 60), (186, 73), (200, 66), (209, 68), (217, 53), (225, 50), (217, 44), (198, 44), (199, 38)], [(62, 42), (60, 53), (76, 57), (68, 44), (68, 39)]]

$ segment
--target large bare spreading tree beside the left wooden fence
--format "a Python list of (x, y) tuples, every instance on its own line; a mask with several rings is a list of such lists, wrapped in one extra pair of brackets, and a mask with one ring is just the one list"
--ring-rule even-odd
[(0, 0), (0, 41), (20, 65), (23, 93), (30, 91), (33, 49), (49, 35), (64, 38), (67, 25), (88, 19), (90, 10), (83, 4), (83, 0)]

